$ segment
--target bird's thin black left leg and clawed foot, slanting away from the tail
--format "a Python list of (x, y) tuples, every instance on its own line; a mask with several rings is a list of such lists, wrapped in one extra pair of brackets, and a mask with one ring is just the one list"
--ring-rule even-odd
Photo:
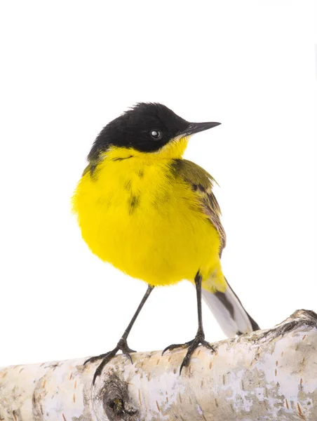
[(128, 335), (130, 333), (130, 330), (131, 330), (135, 320), (137, 319), (137, 316), (139, 315), (142, 307), (144, 306), (144, 303), (147, 301), (147, 298), (149, 298), (149, 295), (152, 292), (153, 288), (154, 288), (154, 286), (151, 286), (151, 285), (149, 285), (147, 287), (147, 292), (144, 294), (144, 297), (142, 298), (139, 307), (137, 307), (137, 311), (135, 312), (133, 318), (131, 319), (130, 323), (128, 324), (128, 327), (124, 331), (123, 335), (121, 336), (121, 339), (116, 344), (116, 347), (114, 349), (112, 349), (112, 351), (106, 352), (105, 354), (100, 354), (98, 356), (92, 356), (91, 358), (89, 358), (88, 360), (86, 360), (83, 363), (85, 365), (88, 362), (93, 363), (93, 362), (95, 362), (99, 359), (102, 359), (100, 365), (97, 367), (97, 370), (95, 370), (95, 375), (93, 376), (93, 385), (95, 385), (95, 380), (96, 380), (97, 376), (102, 373), (102, 369), (104, 368), (104, 366), (116, 355), (116, 353), (119, 350), (122, 351), (122, 354), (126, 355), (132, 363), (132, 358), (130, 356), (130, 352), (135, 352), (135, 351), (128, 347), (127, 338), (128, 338)]

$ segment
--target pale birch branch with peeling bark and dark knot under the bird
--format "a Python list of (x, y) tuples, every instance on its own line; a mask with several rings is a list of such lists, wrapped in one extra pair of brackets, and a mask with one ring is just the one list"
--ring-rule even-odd
[(116, 356), (92, 385), (85, 359), (0, 369), (2, 421), (317, 420), (317, 315), (184, 350)]

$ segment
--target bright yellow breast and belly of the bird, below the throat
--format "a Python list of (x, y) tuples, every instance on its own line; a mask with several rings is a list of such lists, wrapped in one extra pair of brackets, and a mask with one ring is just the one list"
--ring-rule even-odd
[(223, 278), (219, 235), (168, 159), (104, 159), (73, 201), (89, 248), (122, 272), (154, 286)]

